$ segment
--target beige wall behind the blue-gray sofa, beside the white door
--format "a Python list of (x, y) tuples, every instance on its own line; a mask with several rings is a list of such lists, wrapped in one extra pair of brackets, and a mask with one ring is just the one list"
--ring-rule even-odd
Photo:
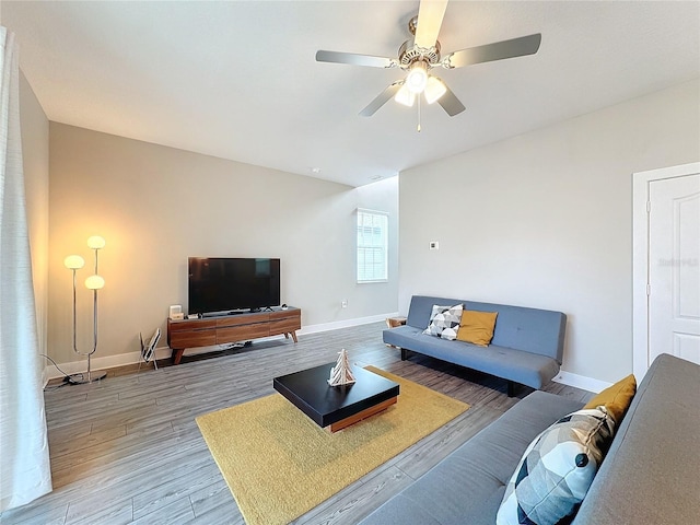
[(699, 93), (685, 83), (402, 172), (399, 311), (415, 293), (561, 311), (564, 371), (631, 373), (632, 173), (700, 160)]

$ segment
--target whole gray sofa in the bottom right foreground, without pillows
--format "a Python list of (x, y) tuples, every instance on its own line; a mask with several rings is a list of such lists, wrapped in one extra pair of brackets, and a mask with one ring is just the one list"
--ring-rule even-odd
[[(700, 366), (662, 354), (573, 524), (691, 524), (700, 516)], [(493, 525), (528, 443), (582, 404), (535, 392), (361, 522)]]

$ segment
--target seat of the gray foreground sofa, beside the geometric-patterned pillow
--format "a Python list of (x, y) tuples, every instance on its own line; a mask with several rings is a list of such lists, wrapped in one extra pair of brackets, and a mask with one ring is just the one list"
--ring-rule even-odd
[(553, 394), (530, 394), (361, 523), (493, 525), (505, 485), (527, 445), (581, 407)]

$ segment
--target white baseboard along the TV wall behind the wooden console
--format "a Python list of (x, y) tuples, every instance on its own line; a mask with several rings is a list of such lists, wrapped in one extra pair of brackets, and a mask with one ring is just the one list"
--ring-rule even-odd
[[(328, 331), (328, 330), (337, 330), (339, 328), (349, 328), (351, 326), (360, 326), (360, 325), (369, 325), (370, 323), (377, 323), (380, 320), (384, 320), (387, 317), (395, 317), (398, 313), (390, 314), (382, 314), (382, 315), (372, 315), (369, 317), (359, 317), (355, 319), (346, 319), (338, 320), (334, 323), (323, 323), (319, 325), (310, 325), (303, 326), (301, 330), (298, 330), (298, 335), (303, 336), (306, 334), (317, 334), (319, 331)], [(273, 340), (280, 339), (284, 336), (273, 336), (273, 337), (265, 337), (260, 339), (256, 339), (256, 341), (265, 341), (265, 340)], [(207, 353), (211, 351), (217, 351), (225, 348), (225, 345), (221, 347), (201, 347), (201, 348), (192, 348), (187, 350), (187, 355), (197, 355), (199, 353)], [(155, 349), (155, 359), (168, 359), (172, 354), (172, 350), (168, 347), (159, 347)], [(117, 355), (106, 355), (104, 358), (93, 357), (91, 359), (90, 368), (92, 370), (105, 370), (105, 369), (114, 369), (116, 366), (124, 366), (127, 364), (135, 364), (141, 360), (141, 352), (128, 352), (128, 353), (119, 353)], [(65, 372), (62, 374), (59, 372), (56, 366), (52, 364), (48, 364), (44, 368), (44, 386), (49, 380), (56, 377), (65, 377), (65, 375), (78, 374), (80, 372), (85, 372), (88, 370), (88, 360), (83, 359), (81, 361), (71, 361), (68, 363), (58, 363), (58, 366)], [(144, 366), (152, 366), (152, 364)]]

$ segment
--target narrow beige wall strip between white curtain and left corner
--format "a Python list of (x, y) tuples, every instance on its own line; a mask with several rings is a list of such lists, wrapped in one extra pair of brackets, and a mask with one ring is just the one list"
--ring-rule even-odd
[(20, 73), (20, 125), (24, 190), (39, 352), (47, 351), (48, 326), (48, 184), (49, 124), (24, 74)]

